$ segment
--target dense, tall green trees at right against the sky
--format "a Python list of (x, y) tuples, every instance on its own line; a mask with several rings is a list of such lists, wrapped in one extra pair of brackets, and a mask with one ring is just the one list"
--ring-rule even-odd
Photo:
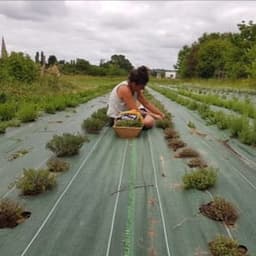
[(178, 53), (180, 78), (256, 78), (256, 24), (242, 21), (238, 33), (204, 33)]

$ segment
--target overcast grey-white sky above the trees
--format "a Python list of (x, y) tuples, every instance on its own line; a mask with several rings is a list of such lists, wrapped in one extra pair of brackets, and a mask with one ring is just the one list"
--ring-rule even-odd
[(7, 50), (33, 59), (83, 58), (99, 65), (122, 54), (134, 66), (173, 69), (179, 50), (204, 32), (237, 32), (256, 1), (2, 1)]

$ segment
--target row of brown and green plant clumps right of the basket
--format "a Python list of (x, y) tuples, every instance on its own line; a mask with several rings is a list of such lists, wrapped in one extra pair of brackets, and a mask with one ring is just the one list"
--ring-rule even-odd
[[(189, 122), (188, 126), (192, 129), (195, 128), (192, 122)], [(192, 170), (186, 172), (182, 177), (184, 189), (207, 190), (213, 187), (217, 181), (218, 170), (208, 167), (196, 150), (187, 147), (186, 143), (181, 140), (180, 135), (174, 129), (171, 120), (168, 127), (159, 126), (159, 128), (164, 129), (164, 137), (168, 146), (176, 152), (175, 157), (190, 159), (187, 165)], [(202, 204), (199, 207), (199, 211), (202, 215), (215, 221), (224, 222), (226, 225), (234, 225), (238, 218), (236, 207), (221, 197), (214, 197), (212, 201)], [(247, 255), (247, 248), (245, 246), (239, 245), (238, 241), (223, 235), (217, 235), (214, 240), (208, 243), (208, 246), (213, 256)]]

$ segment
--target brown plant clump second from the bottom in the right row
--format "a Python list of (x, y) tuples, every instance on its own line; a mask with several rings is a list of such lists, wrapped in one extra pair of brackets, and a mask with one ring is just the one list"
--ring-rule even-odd
[(227, 225), (234, 225), (238, 218), (238, 212), (234, 205), (221, 197), (215, 197), (213, 201), (202, 204), (199, 210), (206, 217), (224, 221)]

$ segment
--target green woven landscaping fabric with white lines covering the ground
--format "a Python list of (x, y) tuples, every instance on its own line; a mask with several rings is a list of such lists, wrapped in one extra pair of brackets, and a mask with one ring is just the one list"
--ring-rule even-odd
[[(46, 142), (56, 133), (80, 131), (82, 121), (106, 104), (106, 97), (101, 97), (81, 105), (76, 113), (46, 115), (0, 137), (1, 196), (20, 201), (32, 212), (16, 228), (0, 229), (0, 255), (204, 255), (207, 243), (217, 234), (238, 239), (253, 255), (255, 160), (251, 157), (249, 165), (223, 144), (225, 132), (206, 126), (196, 113), (151, 92), (173, 114), (183, 141), (219, 169), (216, 187), (206, 192), (182, 189), (188, 160), (175, 158), (161, 129), (142, 131), (128, 140), (105, 127), (99, 135), (89, 136), (79, 155), (65, 158), (71, 168), (58, 174), (57, 188), (35, 197), (20, 196), (15, 187), (8, 188), (22, 168), (45, 166), (52, 155), (45, 149)], [(200, 133), (193, 133), (188, 121)], [(7, 160), (21, 148), (29, 148), (29, 153)], [(244, 157), (249, 158), (248, 150), (255, 154), (252, 148), (237, 148)], [(199, 213), (200, 204), (216, 195), (238, 206), (235, 227)]]

